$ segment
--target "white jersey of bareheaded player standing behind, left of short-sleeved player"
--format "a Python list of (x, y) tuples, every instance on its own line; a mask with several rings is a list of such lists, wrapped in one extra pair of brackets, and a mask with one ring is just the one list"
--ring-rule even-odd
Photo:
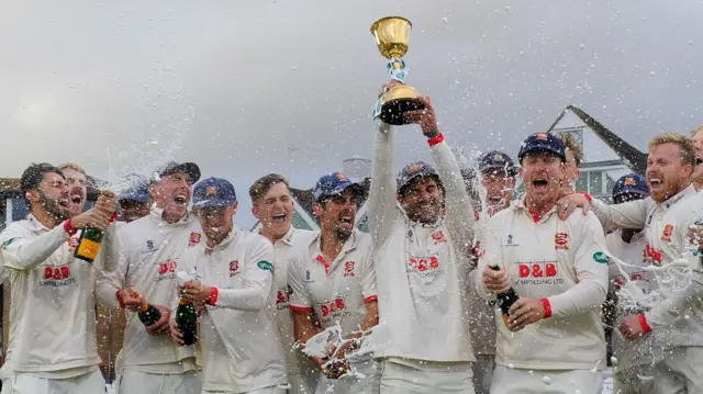
[[(297, 229), (292, 226), (286, 235), (274, 244), (274, 289), (276, 289), (276, 323), (278, 334), (286, 353), (288, 374), (299, 374), (301, 360), (308, 357), (293, 348), (293, 315), (289, 307), (291, 289), (288, 285), (288, 257), (291, 249), (300, 245), (309, 245), (315, 237), (315, 232)], [(299, 354), (300, 353), (300, 354)]]

